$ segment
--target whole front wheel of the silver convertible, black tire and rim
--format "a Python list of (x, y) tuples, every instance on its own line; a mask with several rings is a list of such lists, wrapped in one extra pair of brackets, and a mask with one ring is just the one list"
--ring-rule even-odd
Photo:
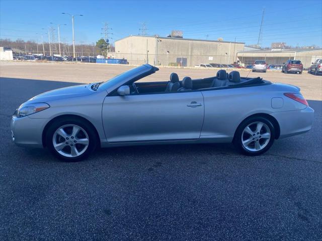
[(96, 149), (97, 140), (96, 132), (88, 122), (71, 117), (54, 122), (46, 133), (48, 149), (66, 162), (87, 158)]

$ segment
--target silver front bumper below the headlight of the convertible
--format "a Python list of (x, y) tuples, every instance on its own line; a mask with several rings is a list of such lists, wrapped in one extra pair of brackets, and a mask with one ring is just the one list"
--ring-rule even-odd
[(45, 118), (12, 116), (10, 127), (13, 142), (18, 146), (42, 148), (42, 132), (47, 122)]

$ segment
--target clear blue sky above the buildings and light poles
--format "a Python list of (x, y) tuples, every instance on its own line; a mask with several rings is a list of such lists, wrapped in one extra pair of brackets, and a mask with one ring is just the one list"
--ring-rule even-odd
[[(112, 41), (137, 35), (145, 23), (148, 35), (167, 36), (182, 30), (184, 38), (257, 44), (265, 8), (262, 46), (271, 42), (322, 47), (322, 1), (9, 1), (0, 0), (0, 37), (39, 40), (50, 22), (61, 27), (61, 40), (92, 44), (102, 37), (104, 22)], [(42, 30), (45, 28), (46, 31)], [(47, 40), (47, 36), (44, 35)]]

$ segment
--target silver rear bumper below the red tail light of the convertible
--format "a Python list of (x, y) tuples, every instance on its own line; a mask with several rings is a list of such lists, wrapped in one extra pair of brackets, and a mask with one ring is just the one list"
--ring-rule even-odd
[(308, 132), (312, 128), (314, 110), (305, 109), (271, 113), (280, 125), (280, 138), (291, 137)]

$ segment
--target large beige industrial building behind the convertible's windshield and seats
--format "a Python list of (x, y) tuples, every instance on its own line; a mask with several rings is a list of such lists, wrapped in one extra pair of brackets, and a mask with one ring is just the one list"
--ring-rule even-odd
[(158, 36), (129, 36), (115, 41), (115, 57), (129, 64), (150, 63), (163, 66), (188, 66), (202, 63), (236, 62), (244, 50), (240, 42), (185, 39)]

